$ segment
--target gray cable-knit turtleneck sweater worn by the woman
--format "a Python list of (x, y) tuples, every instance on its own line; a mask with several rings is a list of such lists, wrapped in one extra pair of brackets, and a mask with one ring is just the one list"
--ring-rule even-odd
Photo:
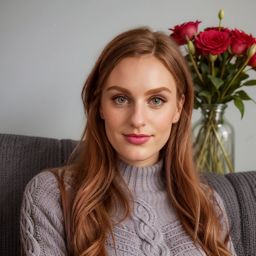
[[(131, 189), (135, 208), (128, 220), (113, 228), (118, 256), (206, 256), (176, 217), (168, 197), (163, 175), (163, 159), (148, 167), (136, 167), (117, 158), (119, 168)], [(61, 173), (61, 170), (59, 170)], [(71, 189), (67, 186), (70, 193)], [(215, 196), (224, 209), (220, 196)], [(218, 214), (221, 212), (216, 206)], [(115, 223), (123, 217), (122, 209), (114, 214)], [(226, 225), (222, 217), (223, 234)], [(20, 219), (24, 255), (66, 255), (64, 219), (58, 182), (51, 172), (37, 174), (23, 194)], [(115, 256), (114, 243), (107, 231), (105, 248)], [(236, 256), (231, 239), (228, 248)]]

